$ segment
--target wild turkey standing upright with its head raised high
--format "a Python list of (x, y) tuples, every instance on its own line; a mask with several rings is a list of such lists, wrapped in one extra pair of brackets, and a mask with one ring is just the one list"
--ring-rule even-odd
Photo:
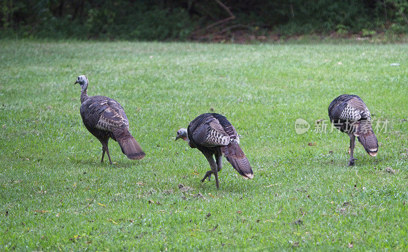
[(142, 159), (145, 154), (139, 143), (129, 132), (129, 121), (122, 106), (116, 100), (106, 96), (88, 96), (88, 78), (80, 75), (74, 84), (81, 85), (81, 117), (85, 127), (102, 144), (102, 159), (104, 162), (105, 152), (109, 163), (112, 164), (109, 155), (109, 138), (117, 141), (122, 153), (129, 159)]

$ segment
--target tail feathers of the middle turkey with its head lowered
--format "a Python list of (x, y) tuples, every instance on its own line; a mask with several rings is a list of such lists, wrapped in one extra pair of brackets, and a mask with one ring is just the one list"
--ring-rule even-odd
[(222, 154), (226, 160), (242, 175), (245, 179), (253, 178), (253, 171), (248, 159), (246, 158), (241, 147), (236, 142), (231, 142), (221, 147)]

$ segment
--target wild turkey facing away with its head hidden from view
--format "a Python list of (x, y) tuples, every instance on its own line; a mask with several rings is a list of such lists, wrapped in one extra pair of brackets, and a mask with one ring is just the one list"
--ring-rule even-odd
[(328, 106), (331, 123), (350, 137), (349, 166), (354, 165), (353, 152), (355, 137), (359, 139), (366, 152), (375, 157), (378, 152), (378, 141), (371, 128), (371, 115), (363, 100), (357, 95), (342, 94)]

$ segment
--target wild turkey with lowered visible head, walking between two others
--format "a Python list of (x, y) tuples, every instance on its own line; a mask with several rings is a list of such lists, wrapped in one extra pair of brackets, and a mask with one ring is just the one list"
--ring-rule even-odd
[(216, 186), (219, 188), (218, 171), (222, 168), (222, 155), (242, 177), (253, 178), (249, 161), (239, 146), (237, 131), (224, 116), (216, 113), (199, 115), (190, 122), (187, 129), (177, 131), (175, 140), (179, 138), (187, 141), (190, 147), (199, 149), (210, 163), (211, 170), (207, 171), (201, 182), (206, 178), (210, 181), (211, 174), (214, 174)]

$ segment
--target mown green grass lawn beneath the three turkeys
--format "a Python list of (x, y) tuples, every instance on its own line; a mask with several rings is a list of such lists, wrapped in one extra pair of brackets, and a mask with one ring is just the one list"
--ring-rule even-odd
[[(406, 55), (400, 44), (0, 41), (0, 250), (406, 250)], [(111, 140), (117, 164), (99, 163), (80, 74), (89, 95), (121, 103), (143, 160)], [(356, 144), (355, 167), (346, 134), (312, 132), (343, 93), (389, 120), (377, 157)], [(211, 108), (242, 135), (254, 179), (224, 159), (220, 189), (201, 183), (207, 160), (174, 141)]]

